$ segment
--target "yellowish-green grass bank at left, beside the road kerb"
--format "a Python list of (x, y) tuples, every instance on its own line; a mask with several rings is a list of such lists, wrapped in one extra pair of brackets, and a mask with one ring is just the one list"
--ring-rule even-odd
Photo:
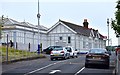
[(37, 52), (30, 52), (29, 50), (17, 50), (12, 47), (0, 46), (2, 62), (8, 62), (13, 60), (20, 60), (32, 57), (44, 57), (42, 54), (38, 55)]

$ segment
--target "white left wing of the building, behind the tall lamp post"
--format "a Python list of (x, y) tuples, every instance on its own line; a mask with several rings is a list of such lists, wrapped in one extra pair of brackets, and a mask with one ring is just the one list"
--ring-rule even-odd
[[(40, 42), (42, 42), (43, 47), (47, 47), (47, 28), (40, 26)], [(14, 48), (20, 50), (36, 51), (38, 49), (38, 27), (32, 25), (28, 22), (17, 22), (10, 18), (4, 19), (4, 25), (2, 27), (2, 43), (12, 40), (14, 43)]]

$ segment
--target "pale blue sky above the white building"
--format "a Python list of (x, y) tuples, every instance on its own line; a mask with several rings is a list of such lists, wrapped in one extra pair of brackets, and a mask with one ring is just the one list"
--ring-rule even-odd
[[(89, 28), (98, 30), (102, 35), (108, 35), (107, 18), (115, 19), (117, 0), (39, 0), (40, 25), (47, 28), (53, 26), (59, 19), (74, 24), (83, 25), (84, 19), (89, 22)], [(0, 15), (19, 22), (29, 22), (37, 25), (38, 0), (2, 0)], [(111, 25), (110, 25), (111, 26)], [(118, 39), (114, 30), (109, 28), (110, 45), (117, 45)]]

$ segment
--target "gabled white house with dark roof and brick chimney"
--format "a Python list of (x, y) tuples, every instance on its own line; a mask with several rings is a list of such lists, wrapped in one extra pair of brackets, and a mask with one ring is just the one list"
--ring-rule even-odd
[(78, 50), (105, 48), (106, 40), (98, 30), (88, 28), (85, 19), (83, 26), (59, 20), (47, 31), (48, 45), (72, 46)]

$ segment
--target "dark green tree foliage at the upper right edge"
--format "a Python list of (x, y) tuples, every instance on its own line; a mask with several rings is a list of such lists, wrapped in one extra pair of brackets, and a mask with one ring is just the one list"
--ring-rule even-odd
[(111, 25), (115, 31), (116, 37), (120, 37), (120, 0), (117, 1), (117, 10), (115, 12), (115, 20), (112, 20)]

